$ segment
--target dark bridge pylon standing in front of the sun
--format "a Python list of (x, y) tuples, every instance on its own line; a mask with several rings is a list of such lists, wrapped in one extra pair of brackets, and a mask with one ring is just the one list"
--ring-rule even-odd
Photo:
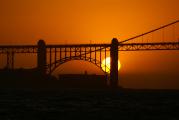
[(116, 38), (112, 39), (111, 49), (110, 49), (110, 87), (118, 87), (118, 40)]

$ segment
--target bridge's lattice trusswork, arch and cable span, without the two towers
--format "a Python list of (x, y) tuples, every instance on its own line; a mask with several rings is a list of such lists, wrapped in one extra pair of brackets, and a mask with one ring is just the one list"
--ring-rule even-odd
[[(118, 51), (179, 50), (179, 33), (177, 33), (179, 29), (176, 28), (177, 25), (179, 26), (178, 23), (179, 20), (141, 35), (120, 41), (118, 43)], [(166, 33), (167, 30), (165, 29), (167, 28), (171, 29), (172, 37), (165, 38), (166, 35), (164, 33)], [(158, 31), (162, 31), (161, 37), (157, 36), (156, 41), (149, 42), (149, 39), (153, 39), (153, 34)], [(142, 42), (136, 42), (138, 39)], [(169, 39), (169, 41), (165, 41), (166, 39)], [(159, 40), (159, 42), (157, 40)], [(7, 56), (6, 67), (14, 69), (15, 54), (37, 54), (38, 47), (38, 45), (1, 45), (0, 54), (5, 54)], [(45, 48), (47, 56), (46, 69), (47, 73), (51, 74), (59, 65), (70, 60), (85, 60), (102, 69), (102, 60), (109, 56), (111, 44), (45, 45)], [(106, 66), (106, 64), (104, 66)], [(107, 73), (107, 69), (109, 68), (102, 70)]]

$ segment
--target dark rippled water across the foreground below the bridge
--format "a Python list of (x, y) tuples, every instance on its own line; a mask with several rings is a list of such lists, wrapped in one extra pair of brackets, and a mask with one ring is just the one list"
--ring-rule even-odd
[(176, 90), (0, 90), (0, 120), (178, 120)]

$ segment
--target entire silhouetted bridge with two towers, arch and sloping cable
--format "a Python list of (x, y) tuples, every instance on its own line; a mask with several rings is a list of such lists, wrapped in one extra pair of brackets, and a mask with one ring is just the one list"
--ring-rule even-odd
[[(15, 54), (37, 54), (37, 70), (40, 74), (51, 74), (60, 65), (71, 60), (84, 60), (99, 67), (105, 74), (110, 70), (110, 85), (118, 83), (118, 53), (120, 51), (179, 50), (179, 20), (153, 29), (135, 37), (111, 44), (46, 45), (39, 40), (37, 45), (1, 45), (0, 54), (7, 56), (6, 67), (14, 69)], [(110, 68), (102, 60), (110, 56)], [(102, 67), (105, 66), (105, 70)]]

